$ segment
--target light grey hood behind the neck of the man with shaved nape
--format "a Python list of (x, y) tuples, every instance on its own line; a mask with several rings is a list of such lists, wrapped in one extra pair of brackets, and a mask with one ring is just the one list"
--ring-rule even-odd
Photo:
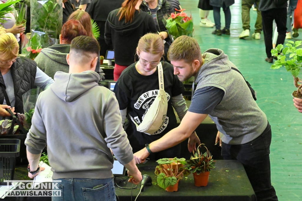
[(100, 76), (94, 71), (81, 73), (56, 72), (51, 90), (63, 101), (71, 102), (89, 89), (98, 86)]

